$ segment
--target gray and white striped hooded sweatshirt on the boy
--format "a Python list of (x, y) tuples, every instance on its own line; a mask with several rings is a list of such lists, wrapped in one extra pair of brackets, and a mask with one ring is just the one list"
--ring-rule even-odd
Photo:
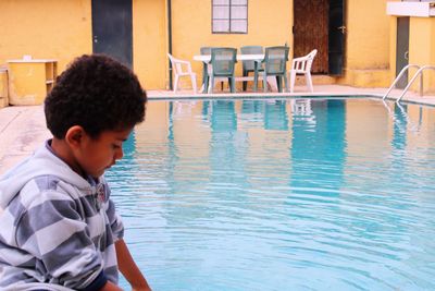
[(124, 228), (103, 178), (84, 179), (48, 143), (0, 179), (0, 290), (117, 283)]

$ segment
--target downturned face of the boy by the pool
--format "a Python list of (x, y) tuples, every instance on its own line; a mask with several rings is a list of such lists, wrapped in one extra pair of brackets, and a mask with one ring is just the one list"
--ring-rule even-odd
[(87, 174), (94, 178), (102, 175), (124, 156), (122, 145), (132, 130), (104, 131), (97, 138), (85, 134), (75, 155), (76, 162)]

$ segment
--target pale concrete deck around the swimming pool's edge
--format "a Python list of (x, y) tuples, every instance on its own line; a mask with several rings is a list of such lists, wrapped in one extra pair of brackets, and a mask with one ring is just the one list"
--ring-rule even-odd
[[(217, 93), (213, 95), (192, 95), (189, 90), (177, 94), (169, 90), (149, 90), (150, 99), (191, 99), (191, 98), (243, 98), (243, 97), (309, 97), (309, 96), (374, 96), (382, 98), (387, 88), (355, 88), (340, 85), (316, 85), (314, 93), (306, 92), (304, 86), (296, 86), (294, 94), (278, 93)], [(390, 100), (399, 96), (401, 90), (393, 90)], [(409, 92), (403, 98), (407, 102), (435, 106), (435, 96), (420, 97)], [(45, 140), (50, 137), (46, 129), (42, 106), (11, 106), (0, 109), (0, 174), (29, 156)]]

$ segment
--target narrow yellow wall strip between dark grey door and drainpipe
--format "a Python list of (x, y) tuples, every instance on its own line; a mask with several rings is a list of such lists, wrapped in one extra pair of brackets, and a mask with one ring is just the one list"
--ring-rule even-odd
[(164, 89), (167, 78), (164, 0), (133, 1), (134, 71), (146, 89)]

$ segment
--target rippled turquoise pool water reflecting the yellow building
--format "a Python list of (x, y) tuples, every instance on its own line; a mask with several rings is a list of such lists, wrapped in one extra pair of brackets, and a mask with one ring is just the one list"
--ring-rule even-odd
[(434, 108), (195, 100), (147, 114), (107, 178), (154, 290), (435, 290)]

